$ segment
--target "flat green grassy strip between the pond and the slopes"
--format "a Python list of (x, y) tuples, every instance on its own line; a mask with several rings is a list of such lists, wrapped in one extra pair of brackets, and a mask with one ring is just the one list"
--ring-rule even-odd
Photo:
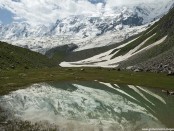
[(100, 68), (47, 68), (0, 71), (0, 95), (33, 83), (62, 81), (102, 81), (174, 90), (174, 77), (165, 73), (116, 71)]

